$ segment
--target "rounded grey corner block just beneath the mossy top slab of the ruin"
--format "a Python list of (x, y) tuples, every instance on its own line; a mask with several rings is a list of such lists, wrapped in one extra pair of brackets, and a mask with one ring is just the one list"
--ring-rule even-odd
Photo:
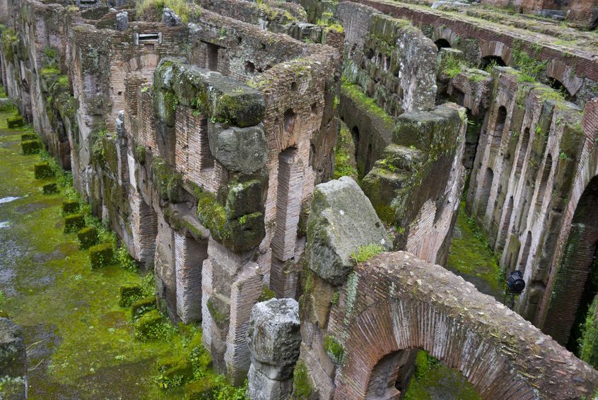
[(208, 124), (210, 151), (229, 171), (249, 174), (261, 170), (268, 159), (268, 141), (261, 125), (224, 128)]

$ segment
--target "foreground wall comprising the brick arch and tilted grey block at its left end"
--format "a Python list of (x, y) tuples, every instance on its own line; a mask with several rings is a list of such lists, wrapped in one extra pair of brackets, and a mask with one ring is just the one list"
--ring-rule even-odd
[(351, 247), (380, 242), (372, 206), (353, 185), (316, 187), (295, 389), (319, 399), (394, 398), (420, 348), (484, 399), (592, 396), (598, 372), (461, 277), (408, 252), (347, 259)]

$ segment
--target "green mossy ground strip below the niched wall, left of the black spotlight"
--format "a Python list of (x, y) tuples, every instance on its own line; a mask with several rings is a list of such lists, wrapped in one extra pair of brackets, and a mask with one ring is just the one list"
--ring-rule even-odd
[(473, 283), (481, 293), (503, 301), (503, 273), (475, 218), (467, 215), (464, 201), (459, 205), (447, 269)]

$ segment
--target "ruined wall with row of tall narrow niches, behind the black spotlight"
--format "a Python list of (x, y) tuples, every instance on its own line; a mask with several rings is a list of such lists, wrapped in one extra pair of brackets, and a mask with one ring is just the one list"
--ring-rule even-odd
[[(542, 326), (538, 312), (551, 297), (546, 290), (551, 264), (563, 251), (557, 237), (570, 225), (564, 211), (570, 207), (575, 179), (579, 179), (574, 179), (576, 170), (588, 150), (579, 107), (551, 88), (521, 83), (518, 76), (507, 68), (493, 72), (492, 100), (467, 207), (486, 228), (491, 247), (501, 254), (501, 264), (508, 271), (524, 273), (528, 289), (520, 298), (519, 310)], [(583, 288), (578, 289), (573, 291), (581, 295)], [(575, 310), (576, 302), (570, 303)], [(571, 320), (568, 329), (572, 324)], [(555, 338), (565, 343), (568, 332)]]

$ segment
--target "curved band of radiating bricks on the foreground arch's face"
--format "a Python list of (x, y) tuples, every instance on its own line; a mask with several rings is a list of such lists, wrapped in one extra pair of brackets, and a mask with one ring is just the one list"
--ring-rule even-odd
[[(366, 326), (368, 329), (363, 329)], [(388, 354), (411, 348), (425, 350), (462, 372), (484, 399), (538, 398), (534, 389), (512, 370), (508, 359), (497, 353), (494, 343), (426, 302), (397, 299), (366, 310), (352, 324), (345, 346), (357, 351), (348, 353), (344, 360), (336, 391), (344, 395), (335, 399), (367, 398), (365, 393), (378, 362)], [(366, 373), (352, 374), (353, 371)], [(399, 377), (391, 379), (396, 381)], [(501, 385), (501, 381), (509, 384)]]

